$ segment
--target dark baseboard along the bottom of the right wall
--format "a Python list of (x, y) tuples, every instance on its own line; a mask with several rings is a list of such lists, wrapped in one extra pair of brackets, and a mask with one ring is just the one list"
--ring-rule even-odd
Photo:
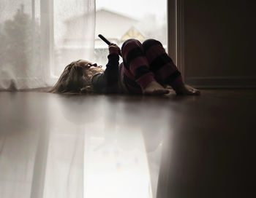
[(197, 88), (256, 88), (256, 76), (191, 76), (185, 82)]

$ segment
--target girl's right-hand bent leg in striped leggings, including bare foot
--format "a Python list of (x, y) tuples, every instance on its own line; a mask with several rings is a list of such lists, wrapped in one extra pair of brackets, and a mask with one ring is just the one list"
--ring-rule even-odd
[(199, 94), (198, 90), (184, 84), (181, 73), (167, 55), (161, 42), (148, 39), (143, 42), (143, 50), (148, 60), (149, 68), (155, 79), (162, 85), (170, 85), (177, 94)]

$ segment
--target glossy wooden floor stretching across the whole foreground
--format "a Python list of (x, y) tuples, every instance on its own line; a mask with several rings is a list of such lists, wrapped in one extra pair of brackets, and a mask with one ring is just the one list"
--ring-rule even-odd
[[(84, 161), (85, 172), (95, 175), (104, 163), (124, 175), (134, 170), (125, 185), (142, 185), (141, 191), (137, 196), (127, 189), (128, 197), (255, 197), (256, 90), (202, 90), (200, 96), (186, 97), (0, 92), (0, 109), (1, 198), (40, 197), (38, 186), (47, 179), (40, 180), (39, 173), (53, 160), (48, 156), (57, 149), (52, 143), (61, 145), (73, 134), (83, 134), (78, 135), (82, 150), (94, 164)], [(97, 155), (100, 149), (104, 157), (113, 151), (116, 158)], [(47, 174), (61, 173), (41, 175)], [(105, 191), (115, 182), (102, 183)], [(146, 182), (150, 192), (144, 196)], [(89, 192), (85, 197), (91, 198)]]

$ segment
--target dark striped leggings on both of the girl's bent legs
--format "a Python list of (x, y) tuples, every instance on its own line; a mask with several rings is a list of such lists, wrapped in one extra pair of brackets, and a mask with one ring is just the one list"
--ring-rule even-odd
[(130, 93), (141, 94), (149, 82), (157, 81), (173, 90), (184, 84), (181, 73), (167, 55), (162, 44), (154, 39), (140, 43), (129, 39), (121, 47), (124, 63), (124, 84)]

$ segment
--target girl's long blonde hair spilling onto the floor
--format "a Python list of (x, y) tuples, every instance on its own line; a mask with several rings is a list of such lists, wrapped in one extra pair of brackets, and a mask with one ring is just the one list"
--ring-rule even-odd
[(91, 84), (91, 78), (97, 73), (102, 73), (103, 70), (100, 67), (90, 67), (85, 70), (83, 66), (80, 66), (78, 63), (79, 61), (80, 60), (74, 61), (64, 68), (58, 82), (56, 82), (50, 92), (94, 92)]

